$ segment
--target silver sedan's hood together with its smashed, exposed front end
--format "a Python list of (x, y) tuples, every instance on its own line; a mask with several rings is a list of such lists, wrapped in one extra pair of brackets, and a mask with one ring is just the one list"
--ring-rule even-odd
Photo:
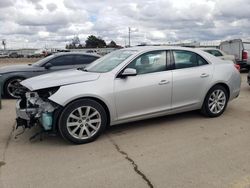
[(82, 70), (64, 70), (32, 77), (20, 84), (24, 89), (16, 103), (17, 128), (41, 125), (43, 131), (57, 132), (57, 120), (63, 107), (51, 97), (66, 85), (99, 78), (99, 74)]

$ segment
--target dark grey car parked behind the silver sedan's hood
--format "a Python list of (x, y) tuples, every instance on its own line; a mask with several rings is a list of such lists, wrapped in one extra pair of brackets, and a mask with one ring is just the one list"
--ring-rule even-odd
[(0, 68), (0, 86), (5, 97), (18, 98), (22, 80), (58, 70), (85, 67), (99, 55), (80, 52), (56, 53), (34, 64), (12, 65)]

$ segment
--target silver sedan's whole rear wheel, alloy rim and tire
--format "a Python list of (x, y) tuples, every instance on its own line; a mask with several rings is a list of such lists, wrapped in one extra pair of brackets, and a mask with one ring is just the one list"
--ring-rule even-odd
[(225, 111), (228, 103), (228, 92), (221, 85), (209, 90), (203, 102), (201, 112), (208, 117), (218, 117)]

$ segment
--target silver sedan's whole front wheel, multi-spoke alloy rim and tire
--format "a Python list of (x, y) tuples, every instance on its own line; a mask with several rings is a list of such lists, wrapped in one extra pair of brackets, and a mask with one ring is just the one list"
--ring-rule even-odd
[(85, 144), (97, 139), (106, 125), (107, 114), (101, 104), (91, 99), (79, 99), (63, 110), (58, 128), (65, 140)]

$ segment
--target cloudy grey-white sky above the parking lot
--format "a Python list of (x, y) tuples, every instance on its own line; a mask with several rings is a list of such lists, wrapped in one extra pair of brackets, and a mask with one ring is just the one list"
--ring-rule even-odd
[(249, 10), (249, 0), (0, 0), (0, 39), (65, 47), (93, 34), (124, 46), (128, 27), (132, 45), (249, 38)]

